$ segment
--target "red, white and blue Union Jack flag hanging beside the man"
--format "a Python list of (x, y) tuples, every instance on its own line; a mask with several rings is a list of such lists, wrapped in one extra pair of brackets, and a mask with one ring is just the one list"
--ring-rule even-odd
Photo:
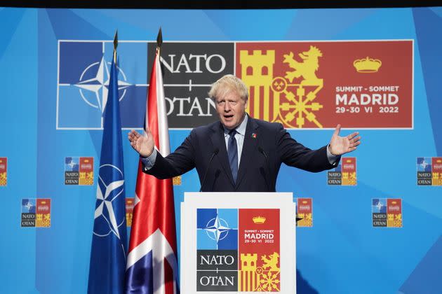
[[(146, 125), (161, 155), (170, 153), (159, 48), (147, 96)], [(138, 164), (132, 231), (126, 265), (126, 293), (176, 294), (178, 258), (172, 179), (159, 180)]]

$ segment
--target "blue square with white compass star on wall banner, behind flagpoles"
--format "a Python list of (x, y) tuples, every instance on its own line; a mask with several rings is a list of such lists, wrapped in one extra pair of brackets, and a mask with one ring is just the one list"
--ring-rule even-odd
[[(111, 41), (59, 41), (58, 130), (102, 129), (112, 52)], [(142, 116), (137, 107), (144, 111), (142, 104), (145, 104), (147, 90), (146, 52), (145, 43), (119, 43), (117, 69), (123, 127), (142, 125), (138, 121)]]

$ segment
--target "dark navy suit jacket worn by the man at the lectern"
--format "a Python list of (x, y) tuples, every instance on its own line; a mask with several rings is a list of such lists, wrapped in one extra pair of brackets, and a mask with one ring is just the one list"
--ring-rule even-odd
[(274, 192), (282, 163), (309, 172), (336, 167), (339, 160), (331, 165), (326, 148), (311, 150), (292, 139), (281, 124), (249, 116), (236, 183), (230, 171), (220, 121), (196, 127), (175, 152), (166, 158), (157, 153), (154, 166), (143, 172), (168, 179), (196, 167), (201, 183), (208, 171), (202, 183), (203, 192)]

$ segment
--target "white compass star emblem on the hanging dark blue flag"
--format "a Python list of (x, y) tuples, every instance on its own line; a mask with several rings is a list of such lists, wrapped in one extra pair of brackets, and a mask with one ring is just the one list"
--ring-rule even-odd
[[(111, 171), (110, 169), (114, 170)], [(98, 176), (97, 204), (95, 205), (93, 234), (98, 237), (114, 234), (118, 239), (121, 239), (119, 228), (124, 223), (126, 211), (119, 211), (119, 215), (116, 215), (114, 212), (114, 202), (116, 202), (119, 197), (123, 197), (123, 173), (114, 165), (102, 165), (99, 174), (112, 174), (112, 172), (114, 174), (112, 178), (119, 179), (113, 182), (107, 182), (102, 176)]]

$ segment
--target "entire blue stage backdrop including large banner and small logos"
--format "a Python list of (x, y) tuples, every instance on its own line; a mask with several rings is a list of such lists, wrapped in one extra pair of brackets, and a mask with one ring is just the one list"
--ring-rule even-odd
[[(302, 198), (299, 293), (442, 293), (442, 8), (0, 8), (1, 293), (86, 293), (112, 38), (122, 125), (140, 129), (160, 26), (172, 149), (216, 120), (225, 73), (311, 148), (360, 130), (334, 171), (281, 168), (277, 190)], [(123, 153), (133, 197), (126, 132)], [(179, 221), (199, 181), (175, 180)]]

